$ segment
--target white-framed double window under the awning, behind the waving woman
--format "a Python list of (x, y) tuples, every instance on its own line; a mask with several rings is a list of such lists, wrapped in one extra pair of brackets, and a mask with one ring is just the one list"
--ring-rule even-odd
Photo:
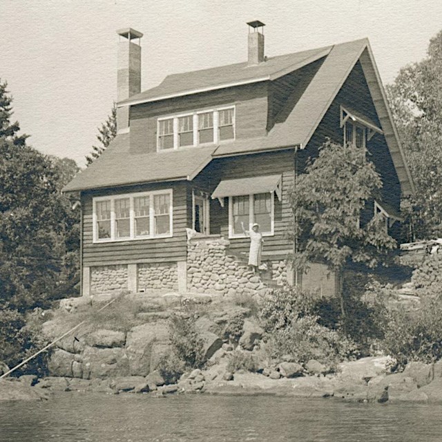
[(273, 235), (273, 192), (229, 197), (229, 237), (244, 236), (242, 226), (250, 230), (254, 222), (260, 224), (263, 236)]

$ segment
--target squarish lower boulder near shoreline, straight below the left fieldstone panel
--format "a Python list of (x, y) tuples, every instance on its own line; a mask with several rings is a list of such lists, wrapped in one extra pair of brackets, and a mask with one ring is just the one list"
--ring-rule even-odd
[(122, 348), (86, 347), (83, 353), (83, 378), (128, 376), (129, 363)]

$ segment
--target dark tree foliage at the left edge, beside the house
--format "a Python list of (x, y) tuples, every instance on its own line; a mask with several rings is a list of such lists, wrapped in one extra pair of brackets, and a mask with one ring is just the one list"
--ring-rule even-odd
[[(41, 305), (60, 285), (68, 232), (78, 224), (60, 189), (74, 173), (26, 144), (10, 124), (12, 98), (0, 90), (0, 305)], [(76, 171), (75, 171), (76, 172)], [(75, 245), (71, 247), (75, 249)]]

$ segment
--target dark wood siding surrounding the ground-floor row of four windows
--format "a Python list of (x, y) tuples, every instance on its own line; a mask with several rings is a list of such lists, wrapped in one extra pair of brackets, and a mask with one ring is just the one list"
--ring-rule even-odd
[[(136, 186), (134, 189), (108, 189), (81, 195), (83, 209), (83, 265), (86, 267), (137, 262), (186, 260), (186, 182)], [(173, 189), (173, 237), (150, 240), (100, 242), (93, 244), (93, 196)]]

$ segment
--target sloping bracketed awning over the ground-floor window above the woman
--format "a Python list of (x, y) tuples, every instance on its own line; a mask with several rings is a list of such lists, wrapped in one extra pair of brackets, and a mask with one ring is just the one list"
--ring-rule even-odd
[(226, 196), (251, 195), (256, 193), (276, 192), (281, 200), (281, 175), (262, 175), (260, 177), (224, 180), (212, 193), (212, 198)]

